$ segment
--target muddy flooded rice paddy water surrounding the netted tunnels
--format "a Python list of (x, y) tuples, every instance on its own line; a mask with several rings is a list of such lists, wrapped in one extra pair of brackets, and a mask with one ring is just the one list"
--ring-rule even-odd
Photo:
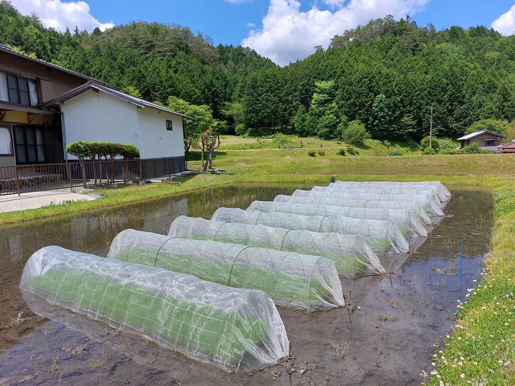
[[(0, 385), (420, 385), (435, 345), (451, 331), (457, 300), (478, 279), (491, 250), (492, 197), (448, 186), (448, 216), (393, 274), (341, 278), (350, 309), (279, 308), (293, 357), (262, 371), (226, 374), (143, 338), (122, 334), (18, 289), (30, 255), (45, 245), (106, 256), (127, 228), (166, 234), (180, 215), (210, 218), (220, 206), (246, 208), (306, 186), (229, 186), (70, 218), (0, 229)], [(460, 259), (460, 240), (463, 242)], [(387, 270), (389, 267), (385, 267)], [(461, 270), (460, 270), (461, 268)], [(30, 301), (30, 300), (28, 300)], [(23, 313), (22, 313), (23, 312)], [(295, 371), (293, 371), (295, 370)], [(291, 373), (291, 374), (290, 374)]]

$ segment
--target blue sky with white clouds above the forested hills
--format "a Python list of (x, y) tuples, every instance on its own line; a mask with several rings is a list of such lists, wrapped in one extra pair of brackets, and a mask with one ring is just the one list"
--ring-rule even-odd
[(284, 66), (327, 48), (335, 34), (392, 14), (437, 30), (485, 25), (515, 32), (515, 0), (11, 0), (47, 27), (92, 32), (131, 21), (175, 23), (218, 45), (243, 45)]

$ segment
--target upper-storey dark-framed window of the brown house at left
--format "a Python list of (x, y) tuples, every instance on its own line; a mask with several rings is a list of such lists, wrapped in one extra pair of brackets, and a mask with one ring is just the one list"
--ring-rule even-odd
[(0, 71), (0, 100), (37, 107), (38, 82)]

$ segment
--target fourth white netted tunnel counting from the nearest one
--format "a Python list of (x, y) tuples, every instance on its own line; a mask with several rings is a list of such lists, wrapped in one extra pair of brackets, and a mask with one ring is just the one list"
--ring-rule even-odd
[(312, 232), (362, 235), (368, 246), (377, 254), (409, 253), (406, 238), (390, 220), (368, 220), (341, 216), (306, 216), (294, 213), (259, 212), (257, 210), (225, 207), (218, 208), (211, 220), (262, 224)]

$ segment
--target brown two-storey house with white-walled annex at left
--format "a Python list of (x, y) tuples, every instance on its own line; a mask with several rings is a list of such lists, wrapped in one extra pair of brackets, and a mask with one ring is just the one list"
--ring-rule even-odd
[(134, 144), (185, 169), (183, 119), (159, 104), (0, 44), (0, 166), (75, 161), (75, 141)]

